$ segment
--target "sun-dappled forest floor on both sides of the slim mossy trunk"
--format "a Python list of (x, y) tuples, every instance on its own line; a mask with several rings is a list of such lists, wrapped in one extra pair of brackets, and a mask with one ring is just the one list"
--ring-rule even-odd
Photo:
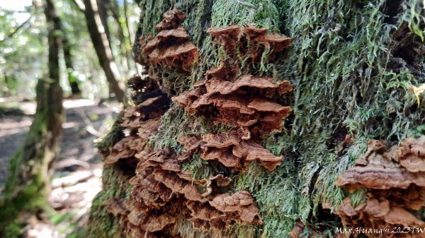
[[(7, 107), (4, 107), (7, 105)], [(13, 107), (11, 107), (11, 105)], [(50, 203), (56, 213), (44, 222), (28, 218), (26, 238), (78, 237), (88, 220), (94, 196), (101, 191), (102, 159), (94, 142), (104, 135), (120, 108), (94, 100), (64, 100), (66, 119), (60, 154), (54, 166)], [(8, 161), (23, 145), (33, 121), (35, 102), (0, 98), (0, 191), (7, 177)], [(4, 111), (4, 108), (8, 108)], [(12, 108), (12, 109), (11, 109)]]

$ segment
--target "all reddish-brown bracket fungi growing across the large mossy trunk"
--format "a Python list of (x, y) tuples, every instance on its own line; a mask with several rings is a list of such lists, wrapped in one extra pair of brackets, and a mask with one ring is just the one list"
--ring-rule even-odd
[[(180, 237), (176, 232), (180, 220), (205, 230), (222, 230), (234, 222), (261, 224), (259, 207), (249, 191), (227, 194), (232, 179), (224, 174), (195, 179), (182, 164), (200, 155), (200, 159), (219, 162), (231, 172), (243, 172), (254, 160), (268, 170), (280, 165), (283, 156), (273, 155), (261, 140), (267, 133), (283, 129), (291, 108), (281, 105), (278, 98), (292, 91), (292, 85), (242, 73), (242, 68), (273, 59), (290, 46), (290, 38), (250, 24), (208, 29), (220, 50), (225, 51), (225, 58), (194, 83), (193, 90), (170, 99), (152, 69), (191, 72), (198, 60), (198, 47), (181, 25), (186, 14), (174, 9), (163, 17), (156, 26), (159, 33), (141, 39), (142, 56), (138, 61), (145, 65), (149, 76), (130, 79), (135, 90), (132, 99), (137, 105), (125, 109), (122, 119), (122, 126), (130, 133), (115, 143), (105, 158), (107, 164), (122, 160), (137, 164), (135, 176), (130, 179), (132, 190), (128, 198), (113, 197), (104, 205), (129, 237)], [(147, 145), (149, 136), (157, 133), (171, 100), (188, 114), (234, 129), (183, 135), (179, 138), (185, 149), (182, 154), (171, 148), (154, 150)], [(346, 227), (425, 227), (418, 218), (425, 207), (425, 139), (407, 138), (391, 148), (382, 141), (369, 141), (365, 155), (337, 179), (336, 186), (350, 192), (367, 189), (360, 204), (354, 206), (347, 197), (334, 210)], [(326, 204), (322, 206), (327, 208)], [(289, 235), (303, 237), (304, 229), (305, 225), (297, 222)], [(346, 234), (351, 236), (356, 234)], [(394, 237), (425, 237), (425, 233), (398, 233)]]

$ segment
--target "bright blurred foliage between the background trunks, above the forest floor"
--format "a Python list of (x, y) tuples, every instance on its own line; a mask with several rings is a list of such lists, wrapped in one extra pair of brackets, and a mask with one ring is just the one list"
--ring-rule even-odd
[[(137, 72), (131, 42), (140, 8), (133, 1), (100, 1), (107, 8), (106, 20), (111, 49), (119, 65), (120, 80)], [(72, 95), (69, 81), (75, 81), (81, 98), (108, 98), (108, 84), (98, 63), (84, 13), (71, 0), (55, 1), (63, 32), (69, 41), (73, 68), (61, 58), (60, 83), (64, 96)], [(37, 79), (47, 73), (47, 30), (42, 1), (0, 2), (0, 85), (1, 97), (32, 100)]]

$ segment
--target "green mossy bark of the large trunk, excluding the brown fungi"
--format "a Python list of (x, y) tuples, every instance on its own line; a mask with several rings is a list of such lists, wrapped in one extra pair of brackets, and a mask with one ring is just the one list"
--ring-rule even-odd
[[(266, 135), (263, 145), (285, 160), (272, 172), (251, 163), (232, 177), (232, 191), (246, 189), (261, 210), (263, 225), (234, 225), (225, 237), (290, 237), (297, 222), (305, 234), (335, 237), (341, 220), (331, 212), (350, 196), (363, 199), (365, 190), (354, 194), (334, 182), (353, 162), (362, 157), (370, 138), (399, 143), (408, 136), (424, 136), (424, 93), (412, 91), (425, 83), (425, 8), (418, 0), (322, 1), (322, 0), (140, 0), (140, 25), (135, 39), (135, 58), (148, 64), (140, 42), (157, 35), (154, 26), (172, 8), (184, 11), (183, 26), (199, 47), (198, 63), (188, 74), (156, 69), (169, 92), (179, 95), (201, 81), (205, 71), (217, 66), (222, 49), (217, 49), (206, 30), (227, 25), (254, 23), (269, 32), (293, 39), (285, 54), (274, 61), (261, 61), (256, 76), (288, 79), (293, 94), (281, 100), (293, 109), (283, 124), (284, 131)], [(416, 97), (417, 96), (417, 97)], [(420, 103), (419, 103), (420, 102)], [(162, 117), (155, 148), (181, 148), (179, 136), (217, 131), (208, 118), (188, 117), (176, 105)], [(119, 123), (119, 121), (118, 121)], [(194, 126), (195, 125), (195, 126)], [(115, 126), (103, 143), (108, 154), (123, 136)], [(347, 143), (347, 141), (351, 141)], [(105, 148), (106, 147), (106, 148)], [(193, 166), (202, 174), (205, 164)], [(206, 162), (207, 168), (212, 168)], [(103, 177), (106, 190), (96, 198), (91, 211), (91, 237), (114, 237), (120, 225), (106, 212), (102, 202), (113, 196), (128, 197), (125, 177), (111, 174), (135, 167), (108, 165)], [(196, 171), (198, 170), (198, 171)], [(205, 169), (206, 170), (206, 169)], [(130, 184), (128, 184), (130, 186)], [(422, 215), (421, 220), (424, 220)], [(103, 230), (104, 228), (108, 230)], [(220, 237), (220, 232), (177, 227), (181, 237)], [(319, 234), (319, 235), (317, 235)], [(116, 237), (116, 236), (115, 236)]]

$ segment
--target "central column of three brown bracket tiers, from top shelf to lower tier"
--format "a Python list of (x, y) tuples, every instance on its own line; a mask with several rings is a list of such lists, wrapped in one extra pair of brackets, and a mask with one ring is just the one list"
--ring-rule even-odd
[(290, 38), (268, 34), (266, 28), (229, 26), (208, 29), (227, 54), (217, 68), (194, 83), (194, 90), (173, 97), (186, 112), (212, 119), (216, 124), (237, 129), (219, 134), (182, 136), (179, 141), (190, 153), (200, 153), (203, 160), (218, 160), (225, 167), (240, 171), (246, 162), (257, 160), (269, 170), (275, 169), (283, 156), (275, 156), (261, 145), (261, 137), (283, 129), (283, 119), (291, 108), (280, 105), (276, 97), (293, 90), (289, 81), (274, 83), (272, 77), (242, 74), (240, 59), (259, 63), (263, 52), (268, 59), (289, 47)]

